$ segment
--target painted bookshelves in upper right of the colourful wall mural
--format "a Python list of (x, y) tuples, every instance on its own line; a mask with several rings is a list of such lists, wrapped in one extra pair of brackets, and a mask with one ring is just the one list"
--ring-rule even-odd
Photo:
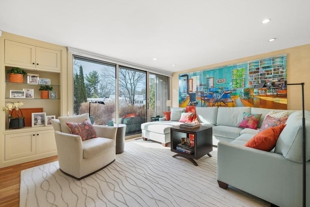
[(256, 60), (248, 63), (248, 86), (263, 82), (286, 80), (286, 55)]

